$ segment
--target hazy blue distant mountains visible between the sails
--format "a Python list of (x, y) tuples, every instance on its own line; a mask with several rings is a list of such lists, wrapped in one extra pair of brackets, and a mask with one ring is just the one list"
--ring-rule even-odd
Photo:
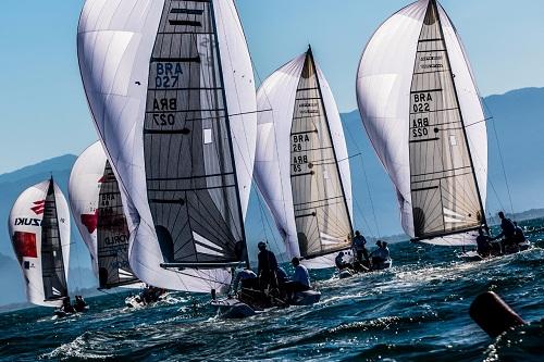
[[(540, 209), (544, 207), (544, 88), (524, 88), (500, 96), (487, 97), (484, 101), (489, 115), (490, 139), (490, 187), (487, 211), (500, 209), (510, 211), (508, 192), (505, 187), (503, 167), (499, 160), (496, 134), (499, 138), (505, 170), (508, 175), (514, 210)], [(354, 210), (356, 228), (369, 236), (396, 235), (403, 239), (397, 201), (393, 185), (368, 140), (358, 111), (342, 114), (348, 151), (350, 155), (354, 188)], [(27, 187), (47, 179), (51, 174), (63, 192), (67, 189), (70, 171), (76, 157), (62, 155), (30, 165), (18, 171), (0, 175), (0, 221), (8, 220), (13, 202)], [(491, 186), (493, 185), (493, 187)], [(496, 190), (493, 191), (493, 190)], [(497, 198), (497, 196), (499, 198)], [(275, 240), (280, 237), (267, 207), (255, 192), (251, 197), (246, 229), (248, 239)], [(523, 216), (541, 217), (544, 210), (531, 210)], [(4, 224), (5, 225), (5, 224)], [(96, 279), (90, 271), (90, 258), (74, 223), (72, 223), (71, 289), (92, 288)], [(281, 248), (280, 248), (281, 249)], [(281, 250), (280, 250), (281, 252)], [(250, 250), (252, 259), (255, 250)], [(24, 302), (24, 285), (13, 250), (8, 228), (0, 230), (0, 305)]]

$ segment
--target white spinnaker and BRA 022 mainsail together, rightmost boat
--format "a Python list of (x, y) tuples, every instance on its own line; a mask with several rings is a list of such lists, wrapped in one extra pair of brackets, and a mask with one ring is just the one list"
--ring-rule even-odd
[(405, 232), (473, 245), (485, 221), (487, 139), (480, 96), (444, 9), (417, 1), (383, 23), (357, 77), (361, 117), (395, 184)]

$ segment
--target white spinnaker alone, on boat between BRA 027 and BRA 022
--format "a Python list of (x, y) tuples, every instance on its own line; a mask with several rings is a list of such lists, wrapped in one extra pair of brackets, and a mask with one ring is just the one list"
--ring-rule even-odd
[[(307, 53), (292, 60), (268, 77), (257, 93), (260, 112), (255, 168), (256, 180), (286, 242), (290, 257), (300, 257), (301, 254), (297, 236), (292, 185), (292, 126), (296, 115), (297, 88), (299, 87), (306, 61)], [(316, 67), (332, 143), (338, 160), (339, 177), (344, 186), (346, 200), (345, 202), (344, 200), (339, 201), (343, 207), (347, 204), (348, 217), (353, 217), (351, 178), (344, 130), (329, 83), (319, 66), (316, 65)], [(319, 108), (321, 108), (321, 104), (319, 104)], [(321, 130), (326, 134), (325, 129)], [(332, 187), (332, 182), (329, 186)], [(341, 190), (335, 191), (339, 192)], [(346, 224), (346, 227), (344, 227), (346, 233), (349, 234), (349, 221), (346, 220), (344, 224)], [(325, 238), (327, 237), (325, 236)], [(332, 241), (331, 245), (334, 247), (335, 242)], [(306, 260), (304, 263), (309, 267), (330, 267), (334, 265), (334, 260), (320, 257)]]

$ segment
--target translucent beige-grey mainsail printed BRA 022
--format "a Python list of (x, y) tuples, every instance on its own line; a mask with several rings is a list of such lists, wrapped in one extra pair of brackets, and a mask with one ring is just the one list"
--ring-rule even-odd
[(410, 189), (416, 238), (477, 228), (484, 221), (435, 1), (429, 1), (410, 92)]

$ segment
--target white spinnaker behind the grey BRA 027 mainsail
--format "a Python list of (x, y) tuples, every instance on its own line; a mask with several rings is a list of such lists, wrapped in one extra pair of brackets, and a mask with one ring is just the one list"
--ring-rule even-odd
[[(209, 9), (213, 16), (209, 16)], [(209, 17), (214, 21), (212, 25), (209, 23)], [(161, 24), (162, 22), (169, 24)], [(160, 25), (161, 29), (159, 29)], [(213, 26), (217, 28), (218, 41), (213, 40), (211, 32), (201, 32), (196, 35), (196, 41), (187, 43), (186, 47), (195, 48), (189, 51), (195, 51), (194, 57), (198, 58), (198, 62), (194, 59), (185, 59), (183, 61), (185, 63), (180, 63), (182, 68), (180, 68), (178, 80), (186, 80), (183, 74), (190, 74), (191, 68), (188, 64), (198, 63), (198, 66), (203, 68), (209, 67), (210, 62), (218, 61), (213, 59), (213, 54), (217, 54), (213, 48), (219, 42), (217, 48), (219, 48), (219, 63), (222, 72), (215, 75), (222, 77), (231, 128), (231, 137), (222, 138), (221, 141), (227, 142), (228, 138), (232, 140), (234, 174), (238, 186), (236, 191), (239, 195), (239, 209), (245, 219), (255, 158), (257, 104), (249, 52), (232, 0), (213, 0), (209, 3), (171, 0), (88, 0), (79, 21), (78, 57), (87, 99), (100, 139), (120, 179), (125, 213), (128, 216), (129, 258), (133, 271), (141, 280), (158, 287), (207, 292), (211, 288), (220, 289), (227, 285), (231, 278), (230, 273), (222, 269), (187, 269), (176, 273), (160, 267), (165, 260), (158, 242), (148, 199), (143, 137), (146, 108), (149, 107), (147, 95), (150, 86), (148, 84), (150, 60), (152, 57), (156, 58), (153, 50), (157, 50), (158, 46), (156, 45), (158, 29), (176, 33), (194, 26), (207, 29)], [(173, 32), (168, 32), (166, 27)], [(165, 33), (161, 36), (168, 37)], [(180, 47), (180, 43), (176, 45), (175, 41), (169, 43), (171, 46), (174, 43), (172, 46), (174, 48)], [(174, 64), (175, 71), (177, 68)], [(191, 80), (196, 82), (196, 79)], [(202, 72), (200, 83), (206, 85), (210, 82), (210, 75)], [(207, 96), (209, 93), (200, 89), (200, 96), (197, 96), (200, 102), (193, 104), (200, 112), (203, 112), (203, 109), (212, 102), (209, 98), (207, 99)], [(178, 104), (185, 107), (186, 102), (190, 101), (186, 99)], [(172, 103), (165, 107), (170, 105)], [(217, 109), (213, 111), (218, 112)], [(205, 117), (201, 116), (200, 121)], [(162, 121), (158, 120), (158, 122)], [(146, 132), (148, 130), (156, 132), (153, 129)], [(222, 130), (224, 136), (226, 133)], [(184, 129), (180, 132), (183, 133)], [(210, 137), (215, 140), (214, 134), (210, 135), (206, 129), (199, 129), (199, 132), (203, 134), (206, 145)], [(220, 140), (217, 139), (217, 141)], [(160, 160), (154, 160), (154, 162), (160, 166)], [(153, 165), (148, 162), (149, 166)], [(206, 167), (210, 166), (210, 164), (206, 165)], [(209, 253), (218, 250), (213, 246), (209, 249), (206, 246), (206, 238), (199, 239), (203, 244), (203, 246), (199, 245), (200, 250), (208, 250)]]

